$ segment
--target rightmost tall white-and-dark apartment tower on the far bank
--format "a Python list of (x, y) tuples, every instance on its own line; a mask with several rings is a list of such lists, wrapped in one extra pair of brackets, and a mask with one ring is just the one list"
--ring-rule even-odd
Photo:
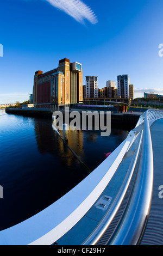
[(129, 84), (130, 80), (128, 75), (117, 76), (118, 96), (129, 99)]

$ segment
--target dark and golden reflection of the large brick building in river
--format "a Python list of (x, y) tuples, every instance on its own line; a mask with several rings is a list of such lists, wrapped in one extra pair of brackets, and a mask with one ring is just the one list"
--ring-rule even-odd
[[(62, 131), (59, 131), (62, 137)], [(58, 155), (67, 167), (71, 167), (72, 163), (76, 159), (73, 153), (66, 147), (62, 139), (59, 137), (57, 132), (52, 129), (52, 122), (49, 123), (47, 120), (37, 121), (35, 120), (35, 133), (36, 141), (40, 153), (50, 153)], [(83, 157), (83, 142), (84, 134), (83, 131), (68, 130), (68, 145), (70, 148), (80, 157)]]

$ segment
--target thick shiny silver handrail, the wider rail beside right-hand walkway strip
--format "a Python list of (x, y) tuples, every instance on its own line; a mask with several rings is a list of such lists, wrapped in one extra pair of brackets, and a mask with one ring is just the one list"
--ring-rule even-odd
[[(145, 113), (137, 177), (125, 218), (112, 237), (111, 245), (137, 245), (141, 241), (151, 208), (153, 192), (153, 149), (149, 129), (149, 112)], [(156, 119), (155, 119), (156, 120)]]

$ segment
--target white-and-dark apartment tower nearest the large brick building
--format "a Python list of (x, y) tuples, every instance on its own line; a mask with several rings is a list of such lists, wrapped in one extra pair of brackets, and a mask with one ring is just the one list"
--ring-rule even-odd
[(98, 97), (98, 81), (97, 76), (86, 76), (85, 77), (85, 96)]

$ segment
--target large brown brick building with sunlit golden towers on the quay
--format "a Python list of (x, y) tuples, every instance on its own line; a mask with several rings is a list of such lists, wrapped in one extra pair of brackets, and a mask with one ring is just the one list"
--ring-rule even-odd
[(33, 102), (36, 108), (51, 108), (83, 101), (82, 64), (70, 63), (65, 58), (59, 60), (56, 69), (43, 74), (36, 71), (34, 76)]

